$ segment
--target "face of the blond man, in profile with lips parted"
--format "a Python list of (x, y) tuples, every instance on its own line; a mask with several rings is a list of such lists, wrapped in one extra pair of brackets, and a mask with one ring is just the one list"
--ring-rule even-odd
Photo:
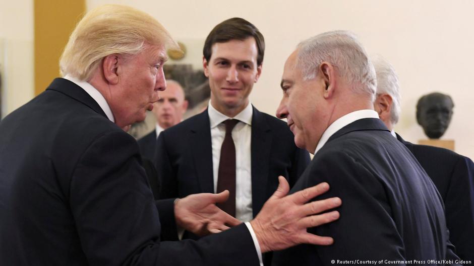
[(115, 123), (126, 126), (143, 121), (146, 111), (153, 109), (158, 101), (158, 91), (164, 91), (166, 80), (163, 63), (166, 60), (162, 46), (147, 45), (137, 55), (118, 57), (119, 81), (108, 97)]

